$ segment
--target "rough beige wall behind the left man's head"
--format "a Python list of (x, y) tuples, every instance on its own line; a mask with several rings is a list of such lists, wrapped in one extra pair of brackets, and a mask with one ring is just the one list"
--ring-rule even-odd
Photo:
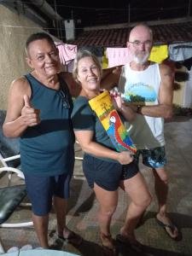
[(0, 4), (0, 109), (7, 108), (10, 83), (29, 71), (25, 61), (25, 41), (42, 28), (23, 15)]

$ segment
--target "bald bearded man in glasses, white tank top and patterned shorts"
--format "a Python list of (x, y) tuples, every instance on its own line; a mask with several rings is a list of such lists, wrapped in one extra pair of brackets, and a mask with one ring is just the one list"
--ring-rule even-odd
[[(154, 173), (154, 186), (159, 202), (157, 223), (175, 240), (181, 233), (166, 213), (168, 177), (166, 173), (166, 152), (164, 139), (164, 119), (172, 117), (172, 70), (164, 65), (148, 61), (153, 45), (153, 33), (143, 24), (132, 28), (127, 48), (132, 61), (115, 70), (102, 80), (102, 87), (111, 89), (119, 84), (126, 103), (137, 112), (137, 118), (127, 124), (134, 143), (137, 144), (137, 160), (143, 156), (143, 164)], [(121, 230), (127, 236), (129, 231)]]

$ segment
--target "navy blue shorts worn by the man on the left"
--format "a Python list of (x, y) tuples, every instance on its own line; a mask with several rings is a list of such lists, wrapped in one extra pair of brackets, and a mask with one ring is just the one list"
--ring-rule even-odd
[(53, 195), (63, 199), (69, 197), (70, 174), (42, 177), (24, 174), (27, 195), (32, 203), (32, 212), (38, 216), (47, 215), (52, 207)]

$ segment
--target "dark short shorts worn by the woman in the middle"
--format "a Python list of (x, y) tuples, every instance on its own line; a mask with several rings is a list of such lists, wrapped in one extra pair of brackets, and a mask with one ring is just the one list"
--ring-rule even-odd
[(83, 171), (90, 188), (96, 183), (108, 191), (117, 190), (120, 181), (134, 177), (139, 172), (135, 160), (128, 165), (121, 165), (118, 162), (98, 159), (90, 154), (84, 154)]

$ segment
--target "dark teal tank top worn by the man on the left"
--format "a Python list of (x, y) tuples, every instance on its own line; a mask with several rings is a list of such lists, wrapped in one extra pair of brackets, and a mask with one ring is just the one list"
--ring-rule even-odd
[(20, 137), (21, 168), (24, 173), (55, 176), (73, 172), (74, 134), (71, 121), (73, 101), (61, 77), (60, 90), (41, 84), (27, 74), (32, 107), (40, 109), (41, 123), (28, 127)]

